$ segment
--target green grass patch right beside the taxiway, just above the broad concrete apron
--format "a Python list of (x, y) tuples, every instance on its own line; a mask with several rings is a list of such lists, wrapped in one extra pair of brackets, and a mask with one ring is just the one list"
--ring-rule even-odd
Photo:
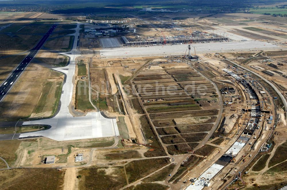
[(89, 86), (87, 81), (79, 80), (76, 87), (76, 104), (78, 110), (93, 110), (94, 107), (89, 101)]

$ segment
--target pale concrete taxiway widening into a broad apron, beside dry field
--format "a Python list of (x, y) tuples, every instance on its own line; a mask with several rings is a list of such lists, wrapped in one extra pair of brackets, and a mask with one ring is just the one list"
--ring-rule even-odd
[(79, 23), (74, 35), (73, 49), (63, 53), (70, 57), (69, 65), (55, 70), (66, 74), (66, 82), (63, 85), (61, 95), (61, 107), (56, 116), (49, 119), (23, 122), (23, 125), (50, 125), (48, 130), (20, 134), (19, 138), (32, 136), (45, 136), (54, 140), (76, 140), (84, 138), (98, 138), (107, 136), (119, 136), (119, 130), (115, 118), (105, 118), (100, 112), (89, 112), (86, 116), (75, 117), (69, 113), (69, 105), (73, 94), (73, 77), (75, 74), (75, 58), (80, 56), (77, 51), (77, 39), (79, 36)]

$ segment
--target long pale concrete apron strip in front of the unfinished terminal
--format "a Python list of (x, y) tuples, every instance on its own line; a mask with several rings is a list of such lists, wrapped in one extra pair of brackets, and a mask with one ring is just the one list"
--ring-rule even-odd
[[(249, 50), (274, 50), (279, 49), (277, 45), (264, 41), (230, 41), (216, 43), (193, 43), (196, 53), (216, 53), (216, 52), (237, 52)], [(149, 47), (119, 47), (113, 49), (100, 50), (103, 58), (122, 58), (137, 56), (168, 56), (184, 55), (187, 44), (178, 45), (156, 45)]]

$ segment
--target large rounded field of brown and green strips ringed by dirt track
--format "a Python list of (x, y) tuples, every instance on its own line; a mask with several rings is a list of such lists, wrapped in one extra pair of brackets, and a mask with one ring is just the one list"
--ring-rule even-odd
[(148, 64), (131, 84), (168, 153), (193, 150), (214, 126), (216, 87), (193, 68)]

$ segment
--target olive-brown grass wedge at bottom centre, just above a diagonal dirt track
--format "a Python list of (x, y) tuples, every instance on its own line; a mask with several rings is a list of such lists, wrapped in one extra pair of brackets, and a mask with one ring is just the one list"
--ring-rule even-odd
[(129, 183), (133, 183), (138, 179), (164, 167), (169, 162), (168, 158), (155, 158), (146, 160), (135, 160), (125, 165), (125, 170)]

